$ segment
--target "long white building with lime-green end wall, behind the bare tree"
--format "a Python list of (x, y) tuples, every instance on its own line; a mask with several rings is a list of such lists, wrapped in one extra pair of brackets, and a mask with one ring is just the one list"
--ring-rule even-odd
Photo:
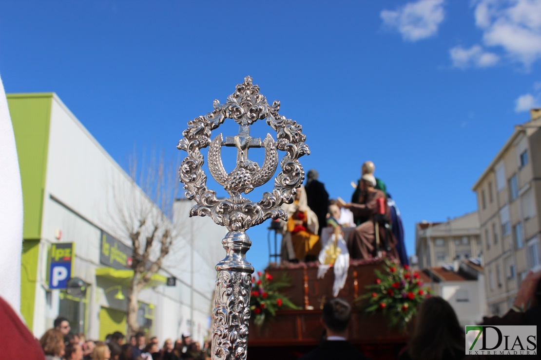
[[(113, 193), (133, 182), (55, 94), (10, 94), (8, 104), (23, 184), (21, 313), (28, 327), (41, 337), (65, 316), (90, 339), (126, 334), (131, 242), (115, 228)], [(139, 188), (133, 193), (150, 201)], [(214, 266), (225, 256), (227, 230), (208, 218), (188, 219), (189, 206), (175, 202), (175, 221), (189, 230), (138, 299), (139, 324), (160, 341), (190, 332), (201, 342), (209, 334)], [(63, 257), (55, 257), (58, 248)], [(71, 262), (69, 277), (84, 281), (85, 296), (54, 289), (65, 275), (54, 273), (54, 264), (64, 260)]]

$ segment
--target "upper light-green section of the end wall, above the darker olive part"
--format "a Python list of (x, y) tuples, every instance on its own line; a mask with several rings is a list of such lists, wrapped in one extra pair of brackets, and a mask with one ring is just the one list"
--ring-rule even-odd
[(24, 207), (23, 239), (39, 239), (52, 93), (8, 94), (6, 97), (21, 168)]

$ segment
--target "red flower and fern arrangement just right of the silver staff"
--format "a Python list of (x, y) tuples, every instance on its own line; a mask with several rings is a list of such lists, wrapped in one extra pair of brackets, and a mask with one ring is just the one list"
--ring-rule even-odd
[(299, 309), (289, 298), (280, 293), (280, 289), (291, 286), (286, 275), (273, 280), (269, 273), (252, 277), (252, 291), (250, 292), (250, 311), (254, 316), (254, 323), (260, 327), (266, 320), (276, 315), (281, 309)]

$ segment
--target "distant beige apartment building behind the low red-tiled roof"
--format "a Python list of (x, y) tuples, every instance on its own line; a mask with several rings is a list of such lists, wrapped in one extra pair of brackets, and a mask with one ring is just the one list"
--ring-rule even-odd
[(445, 222), (415, 224), (415, 254), (420, 269), (477, 257), (482, 251), (477, 212)]

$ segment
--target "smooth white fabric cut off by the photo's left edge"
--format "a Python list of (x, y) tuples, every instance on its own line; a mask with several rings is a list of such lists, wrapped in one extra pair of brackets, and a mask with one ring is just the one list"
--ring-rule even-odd
[(0, 78), (0, 296), (20, 313), (23, 194), (8, 101)]

